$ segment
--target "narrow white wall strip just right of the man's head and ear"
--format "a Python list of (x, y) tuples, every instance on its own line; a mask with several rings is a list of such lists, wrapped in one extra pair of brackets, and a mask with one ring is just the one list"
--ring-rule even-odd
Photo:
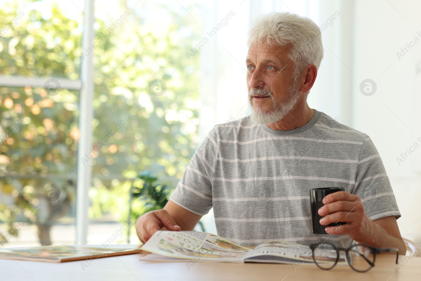
[[(321, 0), (316, 23), (322, 32), (324, 57), (314, 87), (308, 96), (310, 107), (352, 126), (352, 29), (354, 7), (349, 0)], [(351, 106), (351, 107), (350, 107)]]

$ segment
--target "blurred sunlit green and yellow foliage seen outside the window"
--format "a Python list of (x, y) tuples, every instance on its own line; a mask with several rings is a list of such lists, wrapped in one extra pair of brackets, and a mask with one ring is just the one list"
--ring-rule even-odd
[[(101, 43), (91, 54), (82, 50), (80, 21), (57, 6), (43, 7), (51, 9), (50, 18), (27, 6), (15, 25), (19, 9), (6, 5), (0, 8), (0, 24), (11, 28), (0, 37), (0, 75), (79, 79), (82, 58), (92, 56), (94, 136), (92, 153), (83, 160), (93, 172), (89, 217), (125, 221), (131, 188), (149, 194), (155, 185), (156, 179), (141, 178), (140, 171), (157, 175), (163, 185), (154, 188), (165, 186), (169, 195), (197, 143), (199, 56), (189, 60), (185, 53), (197, 41), (200, 26), (171, 6), (153, 4), (167, 19), (157, 26), (147, 13), (136, 12), (146, 5), (151, 9), (151, 3), (141, 0), (134, 11), (121, 1), (120, 11), (95, 19), (94, 42)], [(116, 25), (123, 14), (125, 20)], [(161, 96), (149, 92), (154, 79), (166, 84)], [(51, 225), (63, 217), (74, 219), (79, 92), (61, 89), (53, 96), (29, 86), (0, 92), (0, 133), (11, 133), (0, 139), (0, 211), (10, 231), (15, 220), (33, 222), (48, 244)], [(58, 187), (57, 201), (46, 192), (51, 185)], [(154, 206), (136, 202), (133, 211), (139, 215), (163, 207), (156, 200)]]

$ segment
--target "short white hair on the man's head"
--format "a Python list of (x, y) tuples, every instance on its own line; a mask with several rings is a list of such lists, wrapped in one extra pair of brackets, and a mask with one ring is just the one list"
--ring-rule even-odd
[(252, 44), (290, 47), (288, 57), (294, 62), (294, 78), (310, 64), (320, 67), (321, 31), (309, 18), (289, 12), (268, 13), (253, 21), (248, 34), (249, 47)]

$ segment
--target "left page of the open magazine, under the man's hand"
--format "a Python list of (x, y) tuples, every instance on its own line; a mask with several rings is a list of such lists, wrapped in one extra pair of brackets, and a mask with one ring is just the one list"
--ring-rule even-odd
[[(166, 257), (211, 262), (243, 262), (250, 251), (214, 234), (168, 230), (157, 231), (141, 249)], [(148, 260), (147, 256), (142, 260)]]

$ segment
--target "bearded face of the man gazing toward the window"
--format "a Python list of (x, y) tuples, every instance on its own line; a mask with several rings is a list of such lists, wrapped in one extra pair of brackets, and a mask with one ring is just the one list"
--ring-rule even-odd
[(247, 87), (256, 123), (281, 120), (299, 99), (288, 48), (250, 45), (246, 59)]

